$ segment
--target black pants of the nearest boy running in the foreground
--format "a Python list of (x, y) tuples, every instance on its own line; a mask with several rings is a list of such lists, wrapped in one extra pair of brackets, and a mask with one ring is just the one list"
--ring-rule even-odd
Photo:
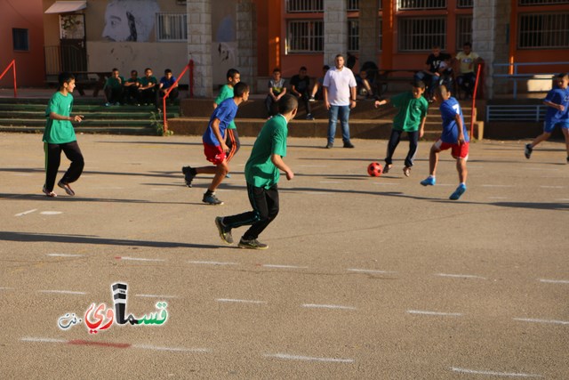
[(252, 211), (226, 216), (223, 218), (223, 224), (231, 229), (251, 225), (249, 230), (243, 234), (244, 240), (251, 240), (259, 238), (260, 233), (276, 218), (276, 214), (278, 214), (278, 189), (276, 184), (270, 189), (265, 189), (247, 183), (247, 193)]

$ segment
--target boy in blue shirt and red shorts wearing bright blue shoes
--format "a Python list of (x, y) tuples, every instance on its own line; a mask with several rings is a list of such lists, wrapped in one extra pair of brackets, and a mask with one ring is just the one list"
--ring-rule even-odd
[(469, 158), (469, 133), (464, 125), (464, 117), (459, 102), (451, 96), (451, 92), (445, 85), (437, 87), (435, 95), (440, 104), (441, 117), (443, 118), (443, 133), (437, 142), (433, 144), (429, 152), (429, 177), (421, 181), (423, 186), (433, 186), (437, 182), (438, 154), (441, 150), (451, 150), (456, 159), (456, 170), (459, 172), (459, 187), (451, 194), (450, 199), (457, 200), (466, 191), (466, 177), (469, 174), (466, 161)]

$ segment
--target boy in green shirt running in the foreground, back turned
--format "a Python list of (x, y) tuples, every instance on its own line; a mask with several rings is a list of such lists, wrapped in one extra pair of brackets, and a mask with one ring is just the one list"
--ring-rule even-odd
[(227, 244), (233, 243), (231, 230), (243, 225), (251, 225), (239, 241), (240, 248), (267, 249), (261, 243), (260, 233), (267, 228), (276, 214), (278, 214), (277, 183), (282, 170), (287, 180), (294, 178), (290, 167), (284, 164), (286, 156), (287, 124), (298, 110), (298, 101), (293, 95), (286, 94), (278, 102), (279, 114), (268, 119), (263, 125), (255, 141), (251, 157), (245, 164), (245, 180), (247, 181), (247, 194), (251, 202), (252, 211), (232, 216), (218, 216), (215, 225), (220, 238)]

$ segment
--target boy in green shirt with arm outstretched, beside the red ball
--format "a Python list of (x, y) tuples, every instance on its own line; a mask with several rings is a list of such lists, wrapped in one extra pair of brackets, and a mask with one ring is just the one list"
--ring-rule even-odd
[(425, 120), (427, 118), (427, 110), (429, 109), (429, 102), (422, 96), (424, 92), (425, 84), (417, 81), (413, 83), (412, 91), (399, 93), (383, 101), (375, 101), (375, 108), (391, 103), (393, 107), (399, 109), (397, 115), (393, 118), (393, 128), (389, 137), (388, 156), (385, 158), (383, 174), (389, 173), (389, 169), (391, 169), (393, 164), (393, 154), (401, 140), (401, 134), (404, 132), (407, 133), (409, 138), (409, 152), (405, 158), (403, 174), (405, 174), (405, 177), (411, 174), (411, 166), (413, 166), (419, 139), (425, 133)]

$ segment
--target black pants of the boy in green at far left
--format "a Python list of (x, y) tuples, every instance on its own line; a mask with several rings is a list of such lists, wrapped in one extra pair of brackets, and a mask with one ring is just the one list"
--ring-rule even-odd
[(84, 159), (79, 149), (77, 141), (67, 142), (65, 144), (49, 144), (44, 142), (45, 150), (45, 190), (52, 191), (55, 186), (55, 177), (60, 168), (61, 150), (65, 156), (71, 161), (68, 171), (63, 174), (61, 182), (76, 182), (84, 168)]

